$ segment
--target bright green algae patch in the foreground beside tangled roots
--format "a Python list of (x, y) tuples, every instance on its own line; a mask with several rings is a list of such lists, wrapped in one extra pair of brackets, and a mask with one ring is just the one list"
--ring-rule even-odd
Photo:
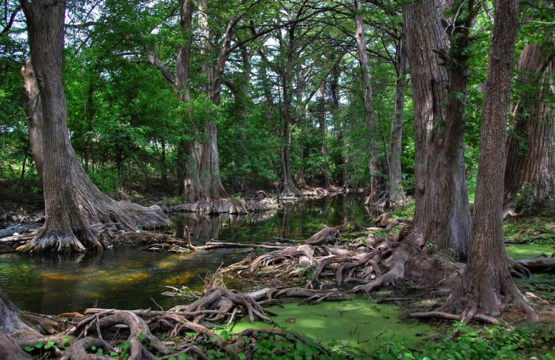
[[(324, 344), (336, 343), (370, 350), (391, 341), (416, 343), (434, 334), (433, 328), (425, 323), (401, 321), (398, 307), (375, 305), (364, 299), (317, 305), (289, 303), (268, 309), (278, 314), (271, 318), (279, 327), (287, 327)], [(244, 321), (227, 330), (238, 333), (248, 328), (271, 327), (268, 323)]]

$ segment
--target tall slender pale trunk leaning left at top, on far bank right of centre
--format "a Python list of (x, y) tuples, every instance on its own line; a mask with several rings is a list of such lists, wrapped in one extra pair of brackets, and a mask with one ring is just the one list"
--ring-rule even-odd
[(359, 55), (359, 66), (361, 72), (363, 100), (364, 100), (364, 121), (368, 129), (368, 168), (370, 170), (370, 196), (366, 200), (366, 205), (372, 205), (377, 201), (377, 145), (375, 144), (376, 120), (374, 107), (372, 105), (372, 80), (370, 80), (370, 69), (368, 68), (368, 54), (366, 51), (366, 37), (364, 36), (364, 20), (362, 18), (362, 8), (360, 0), (355, 0), (354, 7), (357, 48)]

